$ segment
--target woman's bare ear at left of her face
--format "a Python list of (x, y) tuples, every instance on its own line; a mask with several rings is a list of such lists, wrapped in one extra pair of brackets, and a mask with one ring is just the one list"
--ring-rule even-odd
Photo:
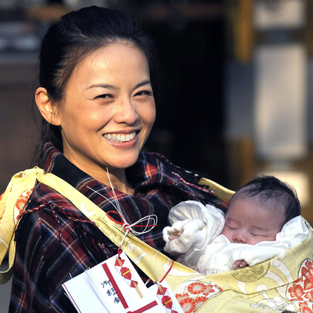
[(44, 119), (48, 123), (56, 126), (61, 124), (60, 118), (57, 114), (56, 106), (53, 105), (52, 101), (49, 99), (48, 92), (45, 88), (37, 88), (35, 92), (35, 101), (41, 115), (43, 115)]

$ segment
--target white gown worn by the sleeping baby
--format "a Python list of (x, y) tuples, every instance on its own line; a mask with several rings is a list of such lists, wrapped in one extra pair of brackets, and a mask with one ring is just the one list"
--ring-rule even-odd
[[(213, 274), (234, 269), (237, 260), (245, 260), (249, 266), (261, 263), (304, 241), (309, 230), (301, 216), (287, 222), (276, 235), (275, 241), (263, 241), (256, 245), (234, 244), (220, 235), (224, 227), (224, 212), (213, 205), (198, 201), (184, 201), (169, 213), (172, 226), (163, 229), (164, 251), (179, 255), (177, 261), (199, 271)], [(174, 240), (168, 237), (182, 232)]]

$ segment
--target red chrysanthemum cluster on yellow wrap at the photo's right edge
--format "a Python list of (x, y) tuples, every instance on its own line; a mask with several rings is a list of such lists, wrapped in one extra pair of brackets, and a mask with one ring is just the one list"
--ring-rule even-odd
[(313, 313), (313, 261), (306, 259), (299, 270), (299, 279), (290, 284), (287, 296), (301, 313)]

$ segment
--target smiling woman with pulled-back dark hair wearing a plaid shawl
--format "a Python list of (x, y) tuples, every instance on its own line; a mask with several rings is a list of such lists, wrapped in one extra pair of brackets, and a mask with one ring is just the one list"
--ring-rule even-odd
[[(101, 212), (118, 201), (123, 223), (155, 215), (157, 225), (136, 234), (163, 251), (171, 207), (186, 200), (226, 204), (198, 184), (198, 173), (140, 152), (156, 116), (152, 47), (137, 22), (105, 8), (83, 8), (51, 25), (35, 93), (43, 117), (36, 165)], [(55, 189), (37, 182), (19, 217), (12, 313), (73, 312), (62, 284), (117, 253), (108, 233)]]

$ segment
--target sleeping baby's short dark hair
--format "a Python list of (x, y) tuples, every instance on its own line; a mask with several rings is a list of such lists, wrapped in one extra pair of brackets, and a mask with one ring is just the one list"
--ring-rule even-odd
[(283, 204), (285, 206), (284, 224), (301, 213), (300, 201), (294, 188), (273, 176), (261, 176), (248, 181), (232, 199), (237, 196), (257, 197), (261, 203), (271, 201), (273, 208), (276, 204)]

